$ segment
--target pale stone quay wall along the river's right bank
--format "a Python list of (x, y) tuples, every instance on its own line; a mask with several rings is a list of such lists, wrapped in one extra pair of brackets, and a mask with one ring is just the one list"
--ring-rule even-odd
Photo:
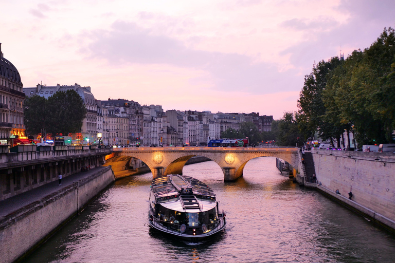
[[(395, 156), (314, 149), (319, 192), (395, 233)], [(339, 190), (340, 194), (335, 191)], [(349, 199), (348, 193), (352, 193)]]

